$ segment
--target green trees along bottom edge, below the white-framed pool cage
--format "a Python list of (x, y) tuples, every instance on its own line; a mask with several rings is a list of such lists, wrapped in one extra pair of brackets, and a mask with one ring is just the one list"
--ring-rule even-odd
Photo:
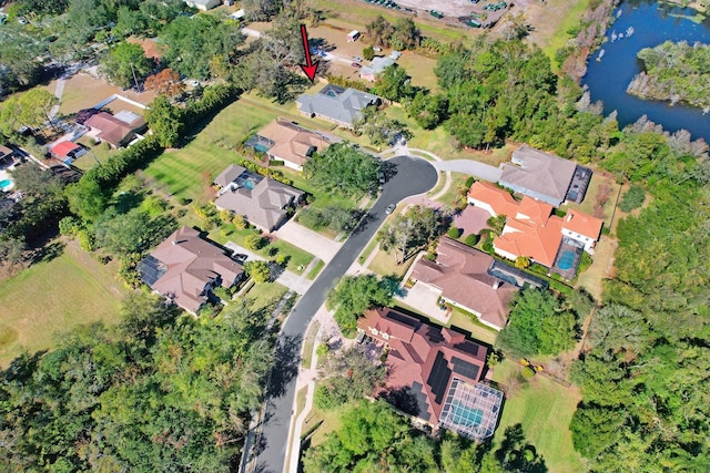
[(341, 428), (306, 450), (306, 473), (447, 472), (544, 473), (545, 460), (525, 440), (520, 424), (508, 426), (500, 448), (477, 445), (444, 433), (434, 440), (414, 430), (382, 400), (352, 404)]

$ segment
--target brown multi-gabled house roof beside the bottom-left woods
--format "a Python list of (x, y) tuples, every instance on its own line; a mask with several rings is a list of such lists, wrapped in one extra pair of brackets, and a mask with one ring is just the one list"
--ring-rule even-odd
[(206, 301), (207, 284), (220, 281), (231, 287), (243, 273), (242, 265), (190, 227), (174, 232), (151, 256), (166, 269), (152, 289), (174, 298), (175, 304), (191, 312)]

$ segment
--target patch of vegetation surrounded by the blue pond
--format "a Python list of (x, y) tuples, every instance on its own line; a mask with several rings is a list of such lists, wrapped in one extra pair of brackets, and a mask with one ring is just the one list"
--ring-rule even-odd
[(627, 92), (645, 100), (671, 105), (686, 103), (710, 112), (710, 45), (666, 41), (638, 53), (645, 71), (637, 74)]

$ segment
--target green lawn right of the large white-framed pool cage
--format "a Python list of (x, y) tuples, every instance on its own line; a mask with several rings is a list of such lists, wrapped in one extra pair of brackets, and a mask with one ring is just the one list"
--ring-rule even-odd
[[(516, 362), (505, 360), (495, 368), (493, 378), (507, 384), (519, 369)], [(499, 444), (505, 429), (520, 423), (527, 441), (545, 457), (548, 471), (584, 471), (581, 456), (572, 448), (569, 431), (569, 422), (580, 399), (576, 388), (565, 388), (538, 374), (506, 399), (494, 442)]]

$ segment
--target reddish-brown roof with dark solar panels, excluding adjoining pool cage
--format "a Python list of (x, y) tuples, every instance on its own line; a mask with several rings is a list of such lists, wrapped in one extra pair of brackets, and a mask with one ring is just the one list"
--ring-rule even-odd
[[(454, 377), (470, 383), (483, 377), (488, 350), (455, 330), (423, 323), (389, 308), (367, 310), (357, 327), (389, 345), (386, 387), (420, 390), (423, 399), (416, 415), (432, 424), (438, 424), (444, 408), (440, 393), (448, 391)], [(400, 332), (405, 339), (385, 338), (377, 327)], [(462, 362), (473, 370), (462, 371), (457, 368)]]

